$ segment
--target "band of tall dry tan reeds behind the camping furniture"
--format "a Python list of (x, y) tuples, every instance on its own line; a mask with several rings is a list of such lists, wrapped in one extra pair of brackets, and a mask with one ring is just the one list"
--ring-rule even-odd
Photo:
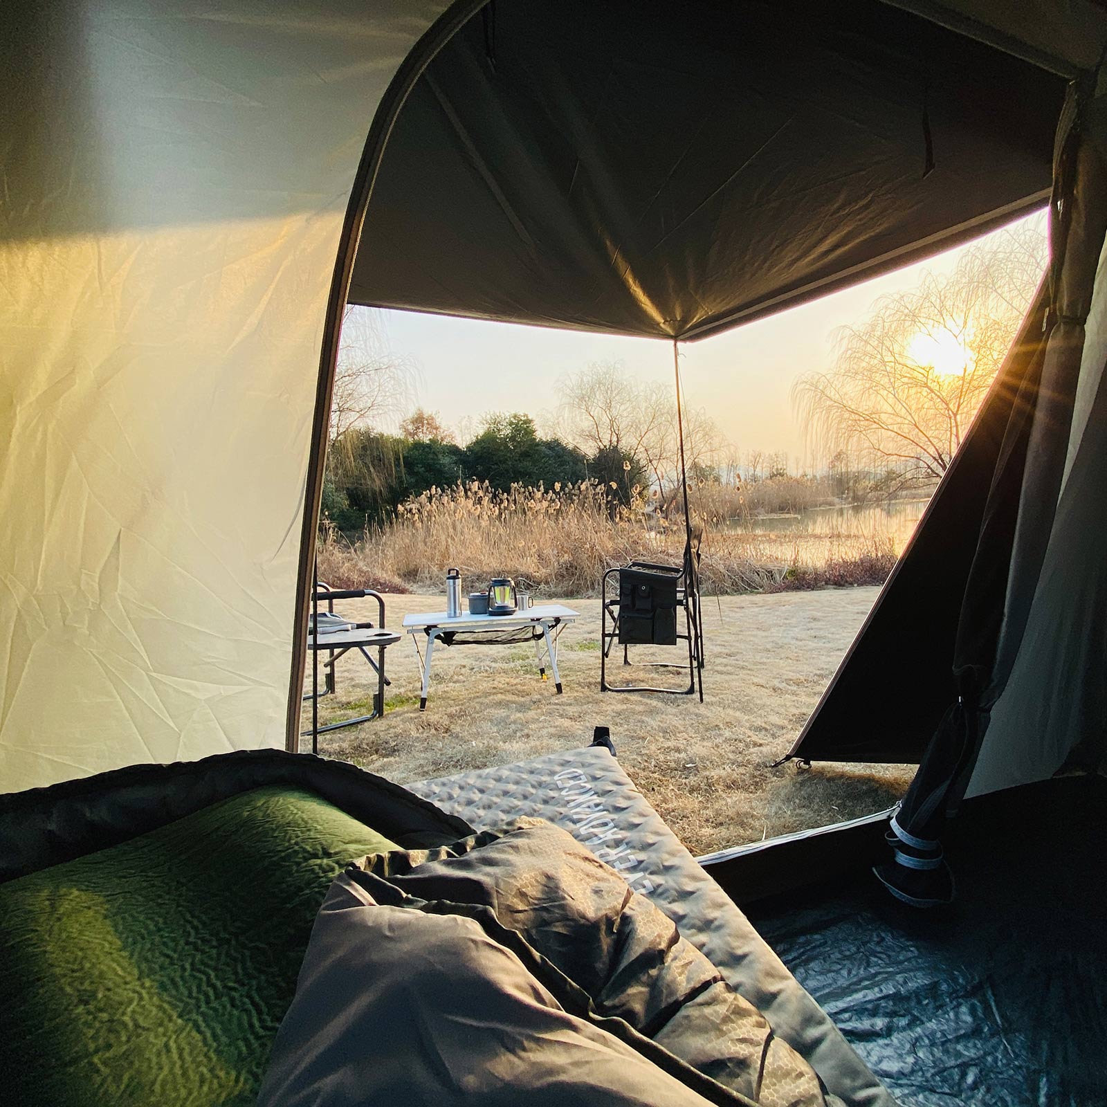
[[(692, 516), (693, 526), (706, 531), (707, 594), (880, 583), (894, 563), (887, 538), (716, 530), (728, 518), (725, 505), (705, 490), (712, 489), (695, 489)], [(473, 482), (431, 488), (354, 545), (325, 531), (319, 567), (320, 578), (338, 587), (436, 592), (446, 569), (456, 566), (467, 589), (506, 575), (539, 596), (584, 597), (597, 594), (612, 566), (631, 558), (679, 563), (683, 549), (683, 517), (665, 518), (640, 493), (621, 506), (594, 482), (506, 493)]]

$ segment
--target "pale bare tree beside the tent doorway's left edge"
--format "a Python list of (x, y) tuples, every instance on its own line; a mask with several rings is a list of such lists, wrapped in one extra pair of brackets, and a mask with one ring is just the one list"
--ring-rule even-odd
[(414, 375), (412, 359), (387, 348), (379, 312), (348, 306), (334, 368), (331, 442), (395, 416), (410, 400)]

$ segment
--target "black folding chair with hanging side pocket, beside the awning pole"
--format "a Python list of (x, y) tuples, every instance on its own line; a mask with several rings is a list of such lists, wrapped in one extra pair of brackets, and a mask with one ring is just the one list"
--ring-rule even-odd
[[(618, 583), (617, 583), (618, 582)], [(684, 632), (677, 630), (684, 611)], [(609, 684), (608, 659), (615, 640), (623, 648), (623, 664), (631, 664), (631, 645), (676, 645), (687, 642), (687, 663), (645, 662), (652, 669), (681, 669), (689, 674), (687, 687), (665, 689), (648, 684)], [(682, 566), (631, 561), (603, 573), (600, 591), (600, 691), (665, 692), (692, 695), (699, 690), (703, 703), (703, 622), (700, 618), (700, 545), (690, 540)]]

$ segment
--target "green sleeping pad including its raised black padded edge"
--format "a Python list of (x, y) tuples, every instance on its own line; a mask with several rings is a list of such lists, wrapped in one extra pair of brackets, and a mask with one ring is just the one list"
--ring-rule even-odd
[(254, 1104), (334, 878), (468, 832), (277, 751), (0, 796), (0, 1103)]

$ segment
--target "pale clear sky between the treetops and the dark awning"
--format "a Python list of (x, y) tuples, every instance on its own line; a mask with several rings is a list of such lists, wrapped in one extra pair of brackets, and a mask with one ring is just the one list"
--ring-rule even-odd
[[(928, 269), (952, 271), (964, 248), (724, 334), (682, 343), (686, 403), (706, 408), (738, 456), (751, 449), (786, 451), (794, 470), (803, 468), (813, 458), (793, 413), (793, 382), (810, 370), (830, 368), (838, 328), (860, 322), (880, 297), (913, 288)], [(673, 381), (672, 345), (663, 340), (406, 311), (376, 314), (383, 344), (415, 368), (413, 406), (437, 412), (462, 439), (488, 412), (525, 412), (541, 426), (557, 411), (558, 382), (590, 362), (622, 362), (639, 379)]]

